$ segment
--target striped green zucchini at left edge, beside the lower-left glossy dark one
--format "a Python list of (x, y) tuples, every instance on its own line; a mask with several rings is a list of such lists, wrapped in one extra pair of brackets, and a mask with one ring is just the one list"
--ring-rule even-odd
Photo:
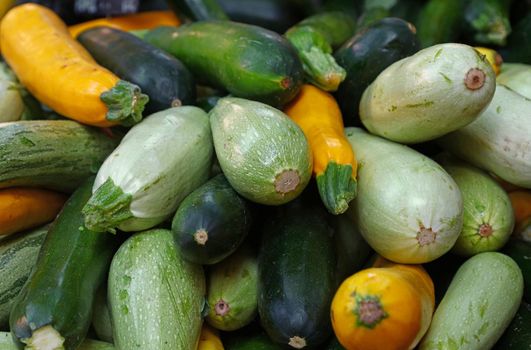
[(26, 283), (48, 232), (48, 225), (0, 242), (0, 330), (7, 329), (13, 302)]

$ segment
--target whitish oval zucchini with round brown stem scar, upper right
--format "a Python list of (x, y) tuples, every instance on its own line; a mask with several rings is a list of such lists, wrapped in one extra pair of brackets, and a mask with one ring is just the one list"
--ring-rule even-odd
[(463, 44), (435, 45), (380, 73), (363, 93), (360, 117), (392, 141), (429, 141), (473, 122), (495, 89), (483, 55)]

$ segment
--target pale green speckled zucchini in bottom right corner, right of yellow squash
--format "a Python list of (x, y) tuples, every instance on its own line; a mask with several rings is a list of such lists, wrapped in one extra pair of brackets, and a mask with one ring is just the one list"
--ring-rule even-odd
[(420, 350), (490, 349), (516, 314), (523, 284), (522, 272), (507, 255), (474, 255), (454, 276)]

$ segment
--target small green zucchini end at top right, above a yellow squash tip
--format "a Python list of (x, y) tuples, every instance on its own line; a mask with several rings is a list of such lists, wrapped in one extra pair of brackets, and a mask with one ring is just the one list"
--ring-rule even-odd
[(504, 46), (511, 33), (512, 0), (470, 0), (464, 12), (465, 34), (475, 43)]

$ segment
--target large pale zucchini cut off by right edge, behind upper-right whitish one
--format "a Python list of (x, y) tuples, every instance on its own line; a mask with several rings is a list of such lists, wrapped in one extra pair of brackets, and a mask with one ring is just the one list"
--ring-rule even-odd
[(531, 188), (531, 101), (503, 85), (471, 124), (438, 140), (439, 146), (512, 184)]

